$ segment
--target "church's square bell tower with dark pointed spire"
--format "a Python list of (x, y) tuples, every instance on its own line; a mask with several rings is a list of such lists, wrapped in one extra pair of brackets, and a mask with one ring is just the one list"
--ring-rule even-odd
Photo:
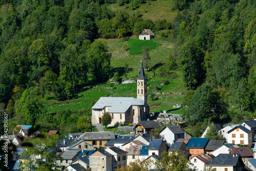
[(144, 104), (147, 105), (147, 78), (144, 73), (142, 59), (140, 62), (139, 76), (137, 78), (137, 98), (144, 101)]

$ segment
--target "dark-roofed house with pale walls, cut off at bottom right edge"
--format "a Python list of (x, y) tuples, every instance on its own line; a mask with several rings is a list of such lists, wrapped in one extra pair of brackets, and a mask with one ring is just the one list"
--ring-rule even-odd
[(206, 168), (212, 166), (214, 170), (237, 171), (244, 170), (244, 162), (239, 154), (219, 154), (205, 164)]

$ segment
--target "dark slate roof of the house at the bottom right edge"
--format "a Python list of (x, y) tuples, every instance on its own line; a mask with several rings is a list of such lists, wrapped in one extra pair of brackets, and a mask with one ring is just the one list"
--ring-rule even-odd
[[(240, 159), (239, 159), (240, 158)], [(205, 165), (212, 165), (212, 166), (236, 166), (238, 161), (240, 160), (240, 164), (244, 165), (240, 155), (234, 154), (219, 154), (214, 159), (206, 163)]]

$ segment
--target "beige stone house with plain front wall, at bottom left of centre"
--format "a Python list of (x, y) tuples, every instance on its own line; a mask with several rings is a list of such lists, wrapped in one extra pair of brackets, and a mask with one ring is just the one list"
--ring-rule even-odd
[(90, 168), (92, 171), (112, 171), (112, 157), (113, 155), (109, 152), (106, 152), (105, 150), (99, 150), (89, 157)]

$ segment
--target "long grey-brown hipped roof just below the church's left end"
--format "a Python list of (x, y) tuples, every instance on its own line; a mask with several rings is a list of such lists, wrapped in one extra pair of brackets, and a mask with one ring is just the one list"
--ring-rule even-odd
[(75, 140), (111, 140), (116, 139), (113, 132), (86, 132), (77, 137)]

